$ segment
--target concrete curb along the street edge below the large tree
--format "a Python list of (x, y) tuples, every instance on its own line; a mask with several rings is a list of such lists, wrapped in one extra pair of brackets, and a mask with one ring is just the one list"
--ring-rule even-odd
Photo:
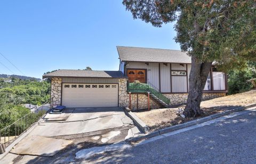
[(243, 106), (243, 107), (236, 107), (236, 108), (233, 108), (233, 109), (230, 109), (230, 110), (227, 110), (227, 111), (223, 111), (223, 112), (218, 113), (218, 114), (214, 114), (214, 115), (210, 115), (210, 116), (207, 116), (207, 117), (191, 120), (190, 122), (187, 122), (187, 123), (166, 127), (166, 128), (163, 128), (162, 130), (157, 130), (157, 131), (151, 132), (151, 133), (143, 135), (143, 136), (133, 137), (133, 138), (127, 140), (127, 141), (128, 142), (139, 142), (141, 140), (146, 140), (146, 139), (149, 139), (149, 138), (157, 136), (157, 135), (162, 135), (162, 134), (165, 134), (165, 133), (180, 130), (181, 128), (193, 126), (193, 125), (196, 125), (196, 124), (201, 124), (201, 123), (207, 122), (209, 120), (212, 120), (212, 119), (215, 119), (215, 118), (218, 118), (218, 117), (222, 117), (222, 116), (226, 116), (226, 115), (230, 115), (230, 114), (235, 113), (237, 111), (242, 111), (242, 110), (252, 108), (252, 107), (256, 107), (256, 103), (251, 103), (251, 104)]

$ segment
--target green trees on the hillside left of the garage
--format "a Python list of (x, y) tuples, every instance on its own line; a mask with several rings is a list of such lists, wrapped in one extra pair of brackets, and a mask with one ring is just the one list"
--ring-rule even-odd
[(20, 80), (12, 77), (12, 82), (0, 80), (0, 129), (12, 124), (19, 118), (27, 115), (27, 120), (23, 119), (18, 125), (10, 127), (10, 133), (15, 133), (15, 128), (19, 132), (25, 130), (35, 122), (42, 114), (30, 113), (30, 110), (20, 106), (20, 104), (31, 103), (42, 105), (50, 99), (50, 82), (37, 82), (34, 80)]

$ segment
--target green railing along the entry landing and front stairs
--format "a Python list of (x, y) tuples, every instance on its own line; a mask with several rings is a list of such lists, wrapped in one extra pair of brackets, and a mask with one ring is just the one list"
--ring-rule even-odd
[(128, 83), (127, 85), (127, 91), (132, 93), (147, 93), (150, 92), (154, 94), (157, 98), (164, 101), (167, 105), (170, 104), (170, 99), (165, 97), (164, 94), (162, 94), (159, 89), (157, 89), (153, 84), (151, 83)]

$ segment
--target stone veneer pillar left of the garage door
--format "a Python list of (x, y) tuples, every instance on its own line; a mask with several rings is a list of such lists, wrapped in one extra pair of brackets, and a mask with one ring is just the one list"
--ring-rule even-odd
[(51, 106), (56, 107), (61, 104), (61, 78), (51, 79)]

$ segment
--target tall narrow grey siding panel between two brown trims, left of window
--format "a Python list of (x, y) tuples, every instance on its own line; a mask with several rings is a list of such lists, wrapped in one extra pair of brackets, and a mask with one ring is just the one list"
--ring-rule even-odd
[(171, 92), (171, 72), (170, 63), (160, 64), (161, 92)]

